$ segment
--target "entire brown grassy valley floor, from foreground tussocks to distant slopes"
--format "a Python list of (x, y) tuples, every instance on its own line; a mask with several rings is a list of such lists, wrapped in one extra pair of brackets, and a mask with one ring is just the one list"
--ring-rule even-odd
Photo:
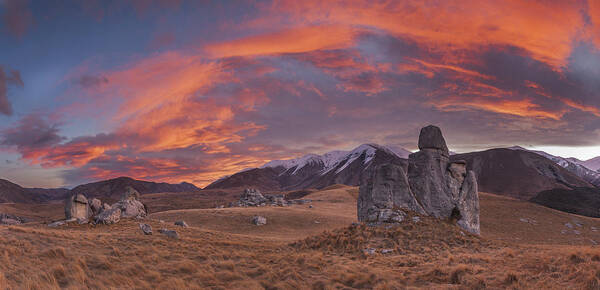
[[(0, 285), (9, 289), (600, 287), (598, 219), (482, 193), (481, 237), (427, 217), (409, 218), (388, 229), (367, 228), (351, 225), (356, 221), (357, 194), (356, 188), (335, 186), (307, 196), (313, 200), (312, 208), (156, 212), (143, 221), (154, 229), (150, 236), (142, 234), (136, 220), (96, 227), (49, 228), (41, 222), (2, 226)], [(57, 214), (56, 209), (48, 211)], [(254, 215), (265, 216), (267, 224), (252, 225)], [(176, 220), (185, 220), (190, 227), (176, 227)], [(180, 239), (159, 234), (160, 228), (177, 230)]]

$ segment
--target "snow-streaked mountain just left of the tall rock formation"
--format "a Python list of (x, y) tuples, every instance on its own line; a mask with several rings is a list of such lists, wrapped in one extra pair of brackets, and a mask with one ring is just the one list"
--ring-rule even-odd
[[(370, 166), (405, 163), (411, 152), (363, 144), (351, 151), (308, 154), (300, 158), (273, 160), (263, 166), (222, 178), (207, 188), (258, 187), (263, 190), (322, 188), (332, 184), (358, 185)], [(258, 182), (260, 180), (260, 182)]]

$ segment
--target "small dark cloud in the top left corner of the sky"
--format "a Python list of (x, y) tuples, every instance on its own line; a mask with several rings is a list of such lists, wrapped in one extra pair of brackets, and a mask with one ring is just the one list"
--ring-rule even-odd
[[(0, 3), (1, 4), (1, 3)], [(33, 15), (28, 0), (5, 0), (4, 13), (0, 15), (8, 33), (17, 38), (25, 35), (33, 24)]]

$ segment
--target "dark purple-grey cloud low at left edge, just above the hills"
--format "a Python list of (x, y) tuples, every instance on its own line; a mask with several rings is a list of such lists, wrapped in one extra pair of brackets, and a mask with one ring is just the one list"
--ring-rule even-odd
[(58, 124), (31, 114), (19, 120), (15, 127), (2, 130), (0, 145), (16, 146), (20, 152), (49, 148), (65, 139), (58, 132)]

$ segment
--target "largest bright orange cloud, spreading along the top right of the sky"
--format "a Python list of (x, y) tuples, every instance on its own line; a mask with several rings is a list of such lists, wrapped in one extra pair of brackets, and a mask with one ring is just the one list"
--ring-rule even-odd
[[(593, 2), (593, 1), (590, 1)], [(299, 23), (373, 27), (409, 36), (436, 52), (508, 44), (537, 60), (565, 64), (583, 19), (575, 1), (280, 1), (273, 14)], [(459, 60), (457, 60), (459, 61)]]

